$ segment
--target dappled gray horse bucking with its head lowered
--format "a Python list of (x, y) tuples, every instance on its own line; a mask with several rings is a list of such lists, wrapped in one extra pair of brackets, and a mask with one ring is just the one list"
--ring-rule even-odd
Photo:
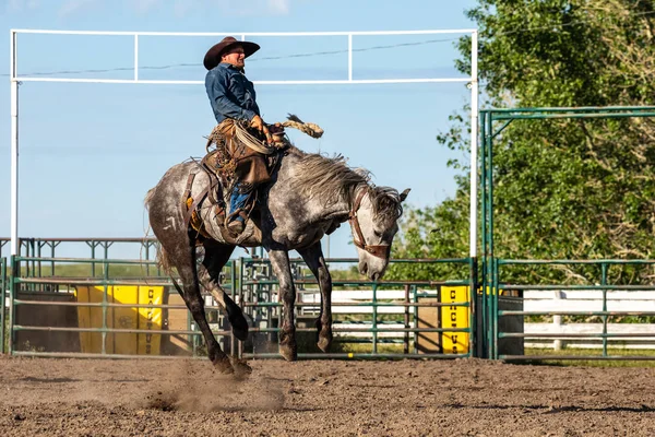
[[(349, 168), (342, 157), (327, 158), (291, 146), (281, 158), (272, 180), (260, 187), (259, 214), (248, 221), (237, 241), (227, 243), (223, 237), (213, 220), (212, 205), (200, 205), (205, 231), (212, 238), (202, 239), (204, 258), (196, 267), (198, 233), (186, 224), (181, 206), (191, 173), (195, 174), (191, 197), (202, 196), (210, 184), (209, 176), (198, 164), (182, 163), (168, 169), (157, 186), (147, 192), (145, 206), (151, 227), (160, 244), (159, 262), (177, 269), (182, 285), (180, 287), (176, 283), (176, 287), (204, 335), (209, 358), (214, 366), (223, 373), (234, 371), (205, 319), (200, 284), (227, 312), (235, 336), (243, 341), (248, 335), (248, 322), (241, 309), (219, 285), (221, 269), (229, 260), (235, 244), (263, 246), (269, 253), (284, 306), (279, 353), (287, 361), (297, 358), (294, 323), (296, 290), (288, 252), (297, 250), (300, 253), (321, 290), (321, 314), (315, 322), (318, 346), (327, 352), (332, 343), (332, 280), (321, 250), (321, 238), (349, 221), (359, 257), (359, 271), (373, 281), (380, 280), (389, 264), (391, 244), (398, 229), (397, 221), (403, 213), (401, 202), (409, 190), (398, 193), (393, 188), (376, 187), (369, 184), (367, 172)], [(235, 362), (235, 366), (249, 370), (241, 363)]]

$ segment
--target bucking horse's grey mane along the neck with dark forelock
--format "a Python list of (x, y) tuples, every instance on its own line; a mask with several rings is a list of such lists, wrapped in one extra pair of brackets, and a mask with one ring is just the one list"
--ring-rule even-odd
[(327, 204), (340, 199), (352, 204), (355, 188), (364, 185), (376, 214), (380, 213), (392, 220), (396, 220), (402, 214), (401, 199), (396, 189), (369, 184), (370, 172), (366, 168), (350, 168), (341, 154), (327, 157), (319, 153), (302, 152), (297, 147), (290, 147), (289, 152), (298, 158), (294, 170), (294, 182), (301, 194), (323, 199)]

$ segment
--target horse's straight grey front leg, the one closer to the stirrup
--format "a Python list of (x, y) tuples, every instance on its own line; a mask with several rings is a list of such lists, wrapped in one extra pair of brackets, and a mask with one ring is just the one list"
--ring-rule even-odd
[(294, 321), (296, 287), (291, 277), (289, 255), (286, 250), (270, 250), (269, 258), (271, 259), (273, 272), (279, 282), (279, 298), (283, 303), (283, 322), (279, 330), (279, 353), (286, 361), (295, 362), (298, 358), (296, 323)]

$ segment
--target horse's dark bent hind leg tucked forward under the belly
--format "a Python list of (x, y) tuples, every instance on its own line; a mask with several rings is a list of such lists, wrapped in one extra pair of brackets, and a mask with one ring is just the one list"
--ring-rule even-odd
[(227, 319), (235, 336), (240, 341), (246, 341), (248, 339), (248, 322), (243, 317), (243, 312), (221, 286), (221, 270), (229, 260), (235, 247), (216, 243), (205, 243), (204, 247), (205, 257), (199, 269), (199, 279), (227, 312)]

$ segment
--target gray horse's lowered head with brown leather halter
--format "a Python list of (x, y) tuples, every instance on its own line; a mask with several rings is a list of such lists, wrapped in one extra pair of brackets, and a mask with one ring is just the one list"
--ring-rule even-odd
[(389, 187), (359, 189), (350, 210), (350, 229), (359, 256), (359, 272), (372, 281), (382, 279), (393, 237), (398, 232), (398, 218), (403, 214), (403, 202), (409, 189), (398, 194)]

